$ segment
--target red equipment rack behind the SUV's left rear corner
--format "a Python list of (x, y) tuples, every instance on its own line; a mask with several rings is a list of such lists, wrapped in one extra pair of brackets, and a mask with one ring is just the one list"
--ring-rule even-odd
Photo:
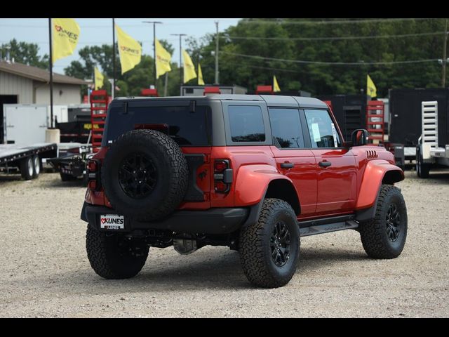
[(96, 90), (91, 93), (91, 124), (92, 124), (92, 150), (98, 152), (101, 147), (103, 131), (105, 131), (107, 107), (109, 97), (105, 90)]

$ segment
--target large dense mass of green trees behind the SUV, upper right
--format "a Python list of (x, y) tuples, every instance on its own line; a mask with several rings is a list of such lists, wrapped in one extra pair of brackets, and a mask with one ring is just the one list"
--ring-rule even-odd
[[(336, 25), (307, 23), (331, 20), (356, 19), (283, 19), (281, 24), (278, 19), (241, 20), (238, 25), (220, 33), (220, 83), (239, 84), (254, 91), (257, 85), (272, 84), (272, 77), (276, 74), (282, 90), (305, 90), (312, 95), (361, 93), (366, 91), (366, 74), (369, 73), (375, 81), (377, 93), (384, 97), (388, 95), (389, 88), (440, 85), (441, 65), (436, 61), (396, 65), (320, 65), (267, 59), (369, 63), (435, 59), (441, 58), (443, 53), (442, 33), (388, 39), (316, 38), (443, 32), (444, 19)], [(215, 57), (211, 52), (215, 51), (215, 35), (206, 35), (201, 42), (193, 41), (189, 46), (192, 55), (201, 55), (206, 83), (213, 83)], [(197, 59), (193, 58), (194, 62)]]

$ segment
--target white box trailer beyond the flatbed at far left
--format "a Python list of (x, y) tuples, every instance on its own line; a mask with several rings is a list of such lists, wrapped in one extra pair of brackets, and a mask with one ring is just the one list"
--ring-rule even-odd
[[(68, 120), (67, 105), (53, 106), (53, 119)], [(45, 143), (46, 129), (51, 125), (51, 110), (48, 105), (5, 104), (4, 139), (5, 144)]]

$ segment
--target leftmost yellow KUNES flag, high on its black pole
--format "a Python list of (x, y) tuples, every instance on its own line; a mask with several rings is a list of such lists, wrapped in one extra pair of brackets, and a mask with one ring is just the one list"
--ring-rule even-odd
[(73, 19), (51, 19), (53, 60), (72, 55), (79, 40), (79, 25)]

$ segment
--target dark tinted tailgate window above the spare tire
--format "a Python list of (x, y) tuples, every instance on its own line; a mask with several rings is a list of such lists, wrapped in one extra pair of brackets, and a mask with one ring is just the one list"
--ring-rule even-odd
[[(110, 140), (116, 140), (121, 134), (136, 128), (154, 128), (168, 133), (180, 146), (212, 145), (212, 127), (210, 107), (196, 106), (195, 112), (187, 107), (128, 107), (124, 109), (112, 107), (109, 110), (109, 121), (105, 130), (102, 146)], [(148, 126), (148, 124), (160, 124)], [(148, 127), (145, 127), (147, 125)]]

